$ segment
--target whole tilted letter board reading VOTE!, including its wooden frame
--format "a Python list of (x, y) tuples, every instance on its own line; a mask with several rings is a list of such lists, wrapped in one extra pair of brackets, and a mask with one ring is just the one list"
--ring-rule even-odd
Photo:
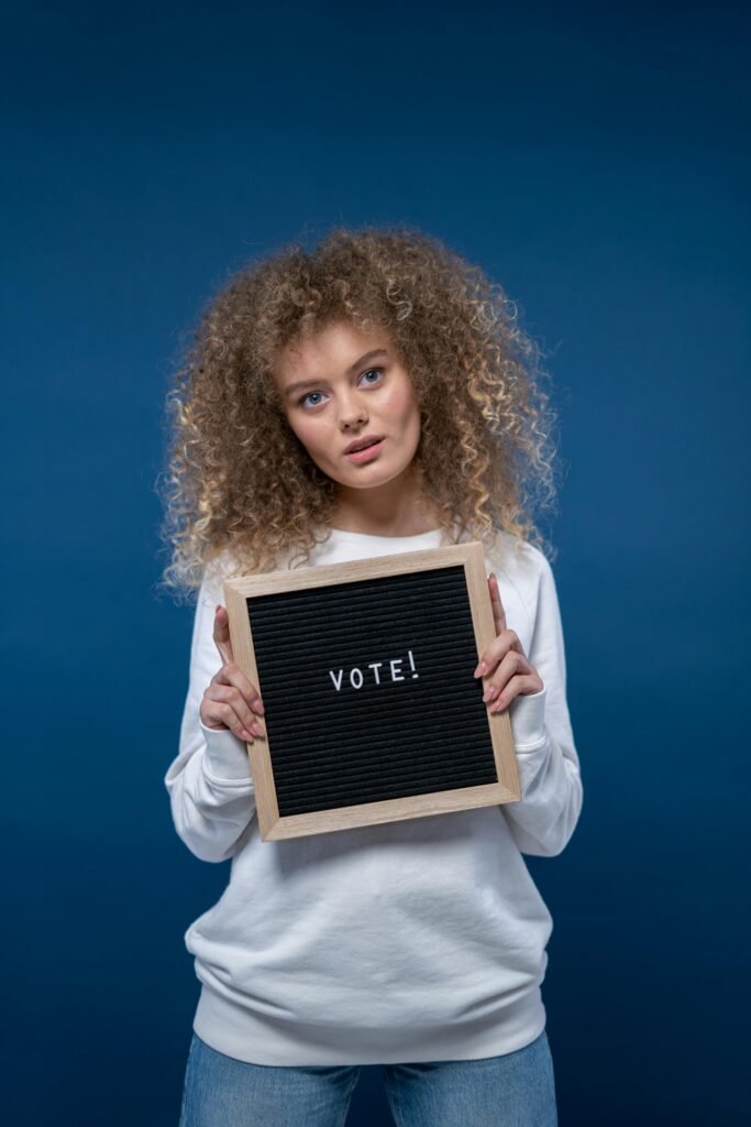
[(482, 544), (224, 582), (266, 738), (263, 841), (518, 801), (508, 709), (475, 678), (495, 636)]

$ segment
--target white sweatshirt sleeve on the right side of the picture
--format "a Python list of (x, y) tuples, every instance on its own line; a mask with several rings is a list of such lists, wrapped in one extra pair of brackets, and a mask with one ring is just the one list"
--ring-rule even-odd
[(509, 706), (521, 786), (518, 802), (501, 809), (522, 853), (556, 857), (574, 832), (582, 806), (579, 756), (566, 703), (561, 611), (551, 565), (534, 549), (540, 574), (527, 657), (544, 687)]

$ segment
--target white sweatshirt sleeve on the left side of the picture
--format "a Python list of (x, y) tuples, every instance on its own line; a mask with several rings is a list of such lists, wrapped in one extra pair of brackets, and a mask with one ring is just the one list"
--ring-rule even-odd
[(196, 604), (179, 754), (164, 775), (175, 828), (202, 861), (227, 860), (256, 813), (245, 744), (229, 729), (207, 728), (199, 715), (206, 686), (222, 665), (213, 636), (220, 602), (218, 583), (205, 574)]

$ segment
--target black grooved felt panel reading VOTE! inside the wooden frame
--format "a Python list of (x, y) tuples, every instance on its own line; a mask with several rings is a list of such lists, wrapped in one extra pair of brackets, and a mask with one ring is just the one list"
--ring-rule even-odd
[(281, 817), (497, 782), (462, 566), (247, 607)]

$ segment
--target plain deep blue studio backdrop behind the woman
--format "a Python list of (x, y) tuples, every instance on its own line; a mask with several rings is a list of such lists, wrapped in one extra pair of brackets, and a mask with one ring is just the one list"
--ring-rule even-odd
[[(557, 389), (584, 808), (529, 868), (562, 1127), (748, 1122), (748, 6), (249, 8), (5, 6), (7, 1121), (177, 1125), (182, 934), (229, 875), (162, 783), (178, 346), (249, 257), (406, 222)], [(388, 1122), (364, 1070), (349, 1124)]]

